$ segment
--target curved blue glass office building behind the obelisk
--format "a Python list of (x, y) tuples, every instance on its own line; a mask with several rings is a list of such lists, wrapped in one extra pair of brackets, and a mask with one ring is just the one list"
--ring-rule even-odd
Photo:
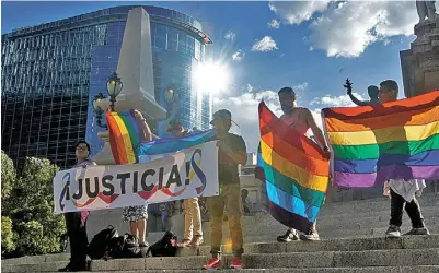
[[(109, 8), (2, 35), (2, 150), (19, 167), (26, 156), (36, 156), (68, 168), (74, 164), (78, 140), (86, 139), (92, 154), (101, 150), (96, 133), (105, 129), (95, 123), (92, 99), (106, 94), (132, 8)], [(186, 14), (142, 8), (151, 21), (157, 102), (185, 127), (207, 129), (211, 98), (196, 90), (192, 74), (210, 39)], [(170, 90), (176, 104), (165, 96)], [(165, 123), (152, 122), (153, 131), (165, 134)]]

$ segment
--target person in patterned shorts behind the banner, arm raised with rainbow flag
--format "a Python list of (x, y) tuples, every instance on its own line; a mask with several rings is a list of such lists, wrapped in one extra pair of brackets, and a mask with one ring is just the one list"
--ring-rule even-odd
[[(132, 116), (141, 129), (141, 138), (145, 141), (152, 141), (151, 130), (139, 110), (132, 110)], [(137, 205), (124, 207), (122, 218), (124, 222), (129, 222), (129, 227), (132, 236), (139, 238), (139, 247), (147, 247), (146, 240), (148, 205)]]

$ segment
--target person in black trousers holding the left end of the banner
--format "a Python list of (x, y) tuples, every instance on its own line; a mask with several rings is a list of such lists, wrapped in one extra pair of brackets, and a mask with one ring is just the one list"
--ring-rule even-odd
[[(79, 141), (74, 145), (74, 151), (77, 164), (73, 168), (86, 168), (89, 165), (96, 165), (95, 162), (89, 158), (90, 144), (85, 141)], [(65, 213), (67, 235), (70, 241), (70, 262), (66, 268), (58, 270), (59, 272), (86, 270), (86, 246), (89, 240), (85, 225), (88, 217), (88, 211)]]

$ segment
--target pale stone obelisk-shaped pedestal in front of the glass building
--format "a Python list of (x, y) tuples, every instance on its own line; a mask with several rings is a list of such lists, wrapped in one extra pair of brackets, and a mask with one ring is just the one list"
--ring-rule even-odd
[[(124, 39), (117, 63), (117, 74), (124, 88), (115, 104), (116, 111), (138, 109), (143, 117), (154, 120), (166, 118), (166, 110), (154, 98), (154, 82), (152, 69), (151, 29), (148, 13), (142, 8), (135, 8), (128, 13)], [(103, 86), (104, 87), (104, 86)], [(109, 106), (108, 98), (99, 102), (102, 109)], [(97, 165), (115, 165), (109, 145), (108, 131), (97, 135), (104, 140), (104, 147), (93, 156)], [(149, 230), (157, 230), (158, 217), (151, 216)], [(92, 211), (88, 224), (88, 235), (92, 238), (97, 232), (113, 225), (119, 234), (129, 232), (129, 223), (122, 221), (122, 209)]]

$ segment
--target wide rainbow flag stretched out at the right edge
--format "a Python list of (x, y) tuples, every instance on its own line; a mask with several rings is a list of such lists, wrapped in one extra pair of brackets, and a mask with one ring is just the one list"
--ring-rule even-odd
[(439, 178), (439, 91), (383, 105), (326, 108), (322, 115), (334, 185)]

